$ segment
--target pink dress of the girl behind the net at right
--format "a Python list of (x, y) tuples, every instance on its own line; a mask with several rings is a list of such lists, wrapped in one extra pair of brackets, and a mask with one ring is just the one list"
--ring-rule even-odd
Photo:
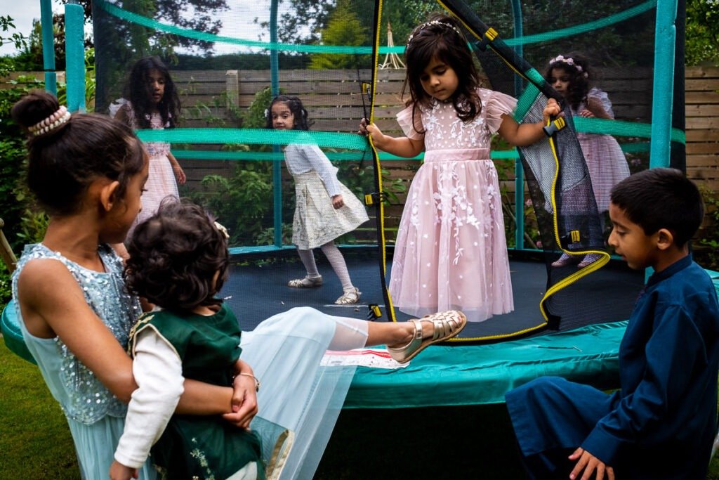
[[(587, 94), (588, 99), (601, 101), (605, 112), (614, 118), (612, 102), (608, 95), (600, 89), (593, 88)], [(579, 104), (572, 114), (577, 116), (586, 109), (584, 102)], [(595, 133), (577, 133), (582, 154), (587, 162), (589, 176), (592, 179), (592, 190), (597, 200), (597, 210), (605, 212), (609, 209), (609, 194), (613, 186), (629, 176), (629, 166), (626, 156), (617, 140), (611, 135), (597, 135)]]

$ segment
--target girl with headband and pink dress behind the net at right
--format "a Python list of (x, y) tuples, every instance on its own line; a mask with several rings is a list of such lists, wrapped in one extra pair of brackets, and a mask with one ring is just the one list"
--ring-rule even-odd
[[(549, 60), (546, 80), (567, 100), (574, 117), (597, 117), (614, 119), (609, 96), (596, 87), (590, 87), (594, 74), (586, 58), (578, 53), (557, 55)], [(597, 201), (602, 231), (604, 212), (609, 209), (609, 194), (613, 186), (629, 176), (629, 166), (617, 140), (611, 135), (577, 133), (592, 180), (592, 190)], [(562, 253), (552, 266), (561, 267), (579, 261), (585, 267), (599, 260), (601, 255), (589, 253), (584, 258)]]

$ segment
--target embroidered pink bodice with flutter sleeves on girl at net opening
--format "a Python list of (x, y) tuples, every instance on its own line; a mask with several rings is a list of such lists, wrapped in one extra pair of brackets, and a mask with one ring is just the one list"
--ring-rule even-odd
[[(397, 114), (402, 130), (410, 138), (419, 139), (424, 133), (424, 148), (431, 150), (488, 149), (492, 135), (502, 124), (502, 115), (511, 114), (516, 99), (497, 91), (477, 89), (482, 111), (472, 120), (464, 122), (457, 117), (451, 101), (433, 101), (430, 109), (420, 109), (412, 125), (412, 106)], [(419, 117), (419, 118), (417, 118)]]

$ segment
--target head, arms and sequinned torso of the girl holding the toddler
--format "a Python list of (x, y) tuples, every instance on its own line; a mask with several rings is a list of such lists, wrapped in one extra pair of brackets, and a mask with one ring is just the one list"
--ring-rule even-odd
[[(42, 91), (12, 116), (29, 137), (27, 183), (50, 216), (42, 243), (25, 249), (13, 276), (19, 325), (68, 419), (83, 478), (107, 478), (137, 388), (125, 349), (140, 313), (109, 244), (120, 247), (141, 208), (147, 154), (121, 122), (70, 115)], [(242, 386), (250, 387), (252, 379)], [(232, 412), (232, 388), (186, 381), (184, 389), (178, 412)], [(226, 420), (242, 422), (232, 413)], [(146, 464), (139, 478), (155, 472)]]

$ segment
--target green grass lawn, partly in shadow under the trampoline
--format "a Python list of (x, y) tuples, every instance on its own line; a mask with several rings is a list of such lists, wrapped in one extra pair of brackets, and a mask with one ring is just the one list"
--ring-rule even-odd
[[(0, 341), (0, 478), (79, 479), (73, 440), (37, 367)], [(521, 479), (503, 404), (351, 409), (316, 479)], [(707, 479), (719, 480), (715, 458)]]

